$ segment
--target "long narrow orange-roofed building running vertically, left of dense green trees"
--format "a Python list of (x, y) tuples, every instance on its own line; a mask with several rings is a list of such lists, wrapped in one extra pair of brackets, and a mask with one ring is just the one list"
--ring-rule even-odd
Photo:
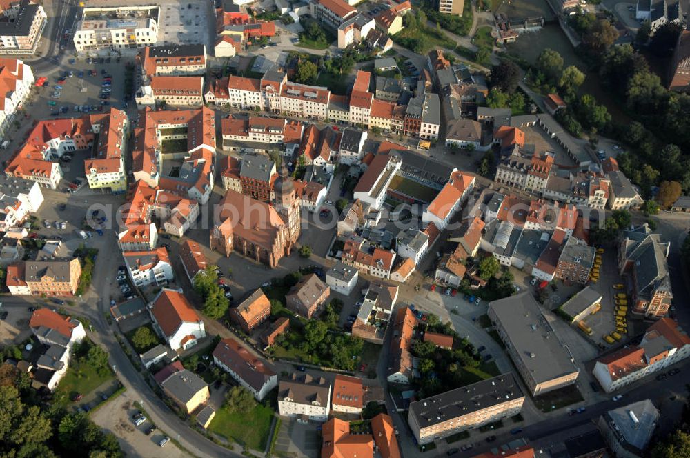
[(393, 321), (391, 350), (388, 352), (386, 379), (392, 384), (408, 384), (412, 380), (412, 337), (417, 319), (408, 307), (399, 308)]

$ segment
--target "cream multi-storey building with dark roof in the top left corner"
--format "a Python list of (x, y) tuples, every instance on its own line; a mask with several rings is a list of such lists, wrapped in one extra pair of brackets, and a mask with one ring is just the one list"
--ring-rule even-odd
[(43, 6), (29, 0), (8, 1), (0, 6), (6, 20), (0, 21), (2, 54), (34, 54), (48, 16)]

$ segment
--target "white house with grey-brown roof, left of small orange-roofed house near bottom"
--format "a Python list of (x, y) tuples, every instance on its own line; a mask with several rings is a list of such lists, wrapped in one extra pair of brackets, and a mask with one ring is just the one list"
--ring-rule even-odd
[(331, 384), (323, 377), (293, 374), (278, 384), (278, 413), (284, 417), (304, 415), (311, 421), (326, 421), (331, 412)]

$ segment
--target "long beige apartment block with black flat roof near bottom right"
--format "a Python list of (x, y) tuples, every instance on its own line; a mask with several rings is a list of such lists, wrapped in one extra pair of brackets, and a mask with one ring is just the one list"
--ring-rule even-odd
[(417, 443), (430, 442), (517, 415), (524, 393), (507, 372), (410, 404), (407, 422)]

